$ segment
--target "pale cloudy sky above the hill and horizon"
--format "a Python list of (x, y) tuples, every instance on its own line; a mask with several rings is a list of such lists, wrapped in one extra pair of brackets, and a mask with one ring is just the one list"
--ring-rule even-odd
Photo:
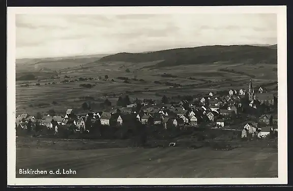
[(16, 58), (277, 44), (276, 14), (16, 15)]

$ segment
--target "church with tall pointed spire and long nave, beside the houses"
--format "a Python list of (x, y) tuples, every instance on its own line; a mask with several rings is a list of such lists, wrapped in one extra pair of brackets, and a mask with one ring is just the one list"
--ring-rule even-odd
[(251, 102), (253, 100), (257, 100), (260, 104), (265, 105), (274, 105), (274, 94), (273, 93), (263, 93), (262, 89), (261, 91), (258, 91), (259, 93), (254, 93), (252, 82), (249, 81), (249, 87), (248, 87), (248, 100)]

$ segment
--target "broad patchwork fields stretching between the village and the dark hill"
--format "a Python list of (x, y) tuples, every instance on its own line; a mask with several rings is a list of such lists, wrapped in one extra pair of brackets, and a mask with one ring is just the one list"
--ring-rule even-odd
[[(90, 59), (90, 58), (87, 58)], [(251, 79), (249, 75), (254, 75), (253, 83), (255, 85), (277, 81), (277, 72), (273, 71), (276, 65), (258, 63), (252, 65), (248, 63), (204, 63), (198, 65), (181, 65), (173, 67), (165, 67), (159, 69), (142, 69), (144, 66), (156, 65), (159, 61), (142, 62), (142, 63), (127, 63), (127, 62), (99, 62), (91, 61), (84, 63), (84, 59), (80, 59), (80, 65), (75, 60), (72, 67), (68, 66), (68, 60), (64, 60), (66, 65), (63, 69), (61, 61), (56, 60), (57, 65), (51, 62), (39, 63), (38, 66), (45, 67), (46, 71), (40, 72), (37, 69), (26, 67), (27, 65), (18, 64), (16, 68), (17, 76), (27, 73), (39, 74), (37, 80), (17, 81), (16, 82), (16, 112), (21, 114), (28, 112), (35, 115), (37, 112), (46, 113), (49, 109), (54, 109), (57, 113), (63, 114), (67, 108), (80, 108), (84, 102), (79, 100), (80, 97), (91, 96), (95, 100), (94, 103), (101, 103), (108, 98), (112, 105), (116, 105), (116, 101), (120, 95), (126, 94), (126, 91), (131, 99), (153, 99), (160, 100), (162, 95), (167, 97), (183, 94), (201, 94), (211, 90), (227, 90), (230, 88), (247, 88), (247, 83)], [(94, 59), (91, 59), (94, 60)], [(87, 60), (90, 61), (90, 60)], [(50, 69), (48, 69), (50, 68)], [(129, 69), (127, 73), (125, 70)], [(237, 72), (245, 72), (245, 74), (237, 74), (232, 72), (223, 72), (219, 69), (229, 69)], [(53, 72), (54, 71), (54, 72)], [(56, 73), (55, 73), (56, 72)], [(175, 75), (175, 78), (162, 77), (167, 73)], [(58, 75), (58, 79), (50, 79), (49, 75)], [(60, 83), (65, 80), (64, 76), (70, 80), (78, 79), (79, 77), (93, 78), (87, 81), (74, 81), (68, 83)], [(108, 81), (99, 80), (98, 77), (104, 78), (109, 76)], [(143, 79), (144, 82), (134, 81), (131, 78), (136, 76), (137, 79)], [(130, 83), (124, 83), (123, 80), (116, 79), (117, 77), (128, 77)], [(192, 77), (194, 79), (189, 79)], [(111, 80), (114, 81), (111, 81)], [(160, 81), (162, 84), (155, 84), (154, 81)], [(52, 82), (56, 82), (52, 84)], [(183, 87), (173, 88), (164, 84), (165, 82), (182, 84)], [(36, 83), (40, 83), (39, 86)], [(50, 84), (49, 84), (50, 83)], [(21, 87), (21, 84), (28, 84), (28, 87)], [(95, 85), (91, 89), (80, 87), (80, 84)], [(188, 86), (193, 84), (193, 86)], [(135, 91), (135, 92), (133, 92)], [(57, 105), (52, 105), (52, 102), (57, 102)], [(39, 104), (43, 106), (39, 106)], [(46, 106), (45, 106), (46, 105)]]

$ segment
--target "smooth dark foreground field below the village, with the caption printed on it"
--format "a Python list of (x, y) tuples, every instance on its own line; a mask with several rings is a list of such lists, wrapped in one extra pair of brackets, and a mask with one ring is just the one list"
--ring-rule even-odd
[[(276, 148), (246, 146), (232, 150), (210, 147), (188, 149), (167, 148), (93, 148), (111, 145), (111, 141), (56, 141), (48, 148), (28, 145), (16, 148), (16, 177), (79, 177), (79, 178), (215, 178), (215, 177), (277, 177)], [(63, 142), (63, 143), (61, 143)], [(80, 143), (80, 142), (83, 142)], [(58, 145), (63, 144), (63, 145)], [(70, 150), (65, 145), (92, 145), (88, 149)], [(253, 143), (254, 144), (254, 143)], [(17, 144), (19, 145), (19, 144)], [(92, 147), (92, 149), (90, 149)], [(81, 146), (78, 147), (79, 149)], [(18, 169), (71, 169), (75, 175), (20, 175)]]

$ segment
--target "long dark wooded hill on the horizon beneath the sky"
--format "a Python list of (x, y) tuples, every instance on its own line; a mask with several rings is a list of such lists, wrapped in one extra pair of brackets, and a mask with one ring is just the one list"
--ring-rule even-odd
[(102, 57), (99, 61), (149, 62), (163, 60), (148, 68), (162, 68), (179, 65), (196, 65), (200, 63), (277, 63), (277, 49), (266, 46), (230, 45), (201, 46), (178, 48), (147, 53), (118, 53)]

